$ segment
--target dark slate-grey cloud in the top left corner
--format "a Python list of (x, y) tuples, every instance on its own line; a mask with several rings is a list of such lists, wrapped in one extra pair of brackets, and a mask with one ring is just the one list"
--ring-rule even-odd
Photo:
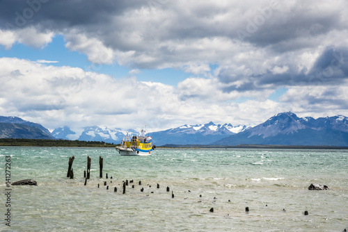
[(52, 1), (3, 0), (0, 2), (0, 28), (22, 28), (42, 25), (61, 30), (69, 26), (107, 24), (111, 15), (129, 8), (139, 8), (143, 1)]

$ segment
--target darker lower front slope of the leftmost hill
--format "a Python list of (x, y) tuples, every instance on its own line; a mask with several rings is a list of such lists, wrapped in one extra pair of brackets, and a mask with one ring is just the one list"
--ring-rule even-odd
[(0, 138), (26, 138), (52, 140), (52, 136), (37, 127), (25, 124), (0, 122)]

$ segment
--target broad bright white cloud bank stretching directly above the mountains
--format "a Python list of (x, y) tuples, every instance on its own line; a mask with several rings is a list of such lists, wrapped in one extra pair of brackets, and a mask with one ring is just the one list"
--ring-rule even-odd
[[(221, 92), (214, 78), (188, 78), (174, 88), (17, 58), (0, 58), (0, 67), (0, 115), (23, 117), (49, 129), (139, 129), (146, 124), (155, 131), (209, 121), (255, 125), (288, 110), (322, 117), (348, 114), (346, 85), (292, 87), (276, 102), (267, 99), (272, 90)], [(237, 103), (239, 97), (252, 99)]]

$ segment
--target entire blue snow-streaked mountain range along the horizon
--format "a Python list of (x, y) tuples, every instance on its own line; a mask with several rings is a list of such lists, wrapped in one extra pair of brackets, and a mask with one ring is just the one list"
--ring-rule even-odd
[[(119, 144), (125, 135), (139, 135), (134, 129), (109, 129), (107, 126), (86, 126), (78, 140), (103, 141)], [(257, 126), (232, 124), (185, 124), (165, 131), (148, 133), (157, 146), (165, 144), (280, 144), (328, 145), (348, 147), (348, 118), (297, 117), (294, 113), (279, 113)], [(40, 124), (19, 117), (0, 116), (0, 138), (40, 138), (72, 140), (76, 133), (68, 126), (54, 129), (52, 133)]]

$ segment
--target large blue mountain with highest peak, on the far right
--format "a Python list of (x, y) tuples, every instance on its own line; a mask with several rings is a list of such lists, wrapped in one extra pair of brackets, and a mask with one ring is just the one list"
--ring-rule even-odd
[(246, 129), (213, 144), (282, 144), (348, 146), (348, 118), (297, 117), (294, 113), (279, 113), (266, 122)]

